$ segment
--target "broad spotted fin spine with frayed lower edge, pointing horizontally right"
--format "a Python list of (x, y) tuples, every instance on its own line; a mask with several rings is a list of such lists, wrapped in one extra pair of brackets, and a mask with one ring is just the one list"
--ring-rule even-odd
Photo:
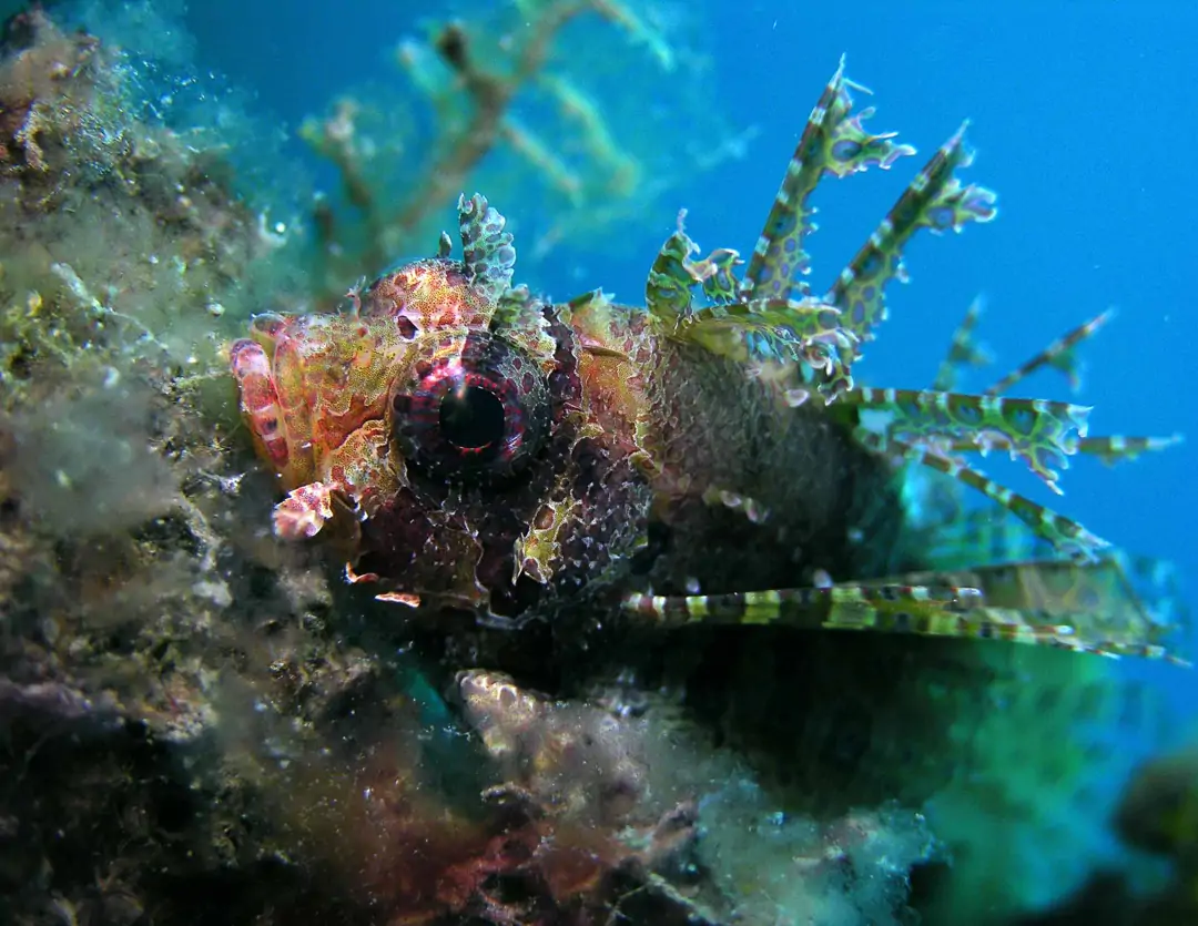
[(1085, 437), (1090, 408), (1047, 399), (1002, 399), (930, 389), (854, 389), (846, 401), (888, 416), (887, 437), (955, 446), (972, 441), (978, 449), (1002, 447), (1060, 492), (1059, 473)]

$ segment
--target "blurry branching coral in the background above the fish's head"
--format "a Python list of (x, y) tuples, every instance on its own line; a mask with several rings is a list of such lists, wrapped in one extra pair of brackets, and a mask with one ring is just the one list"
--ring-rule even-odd
[[(737, 156), (744, 137), (719, 123), (702, 91), (701, 56), (679, 47), (686, 37), (677, 19), (668, 37), (654, 25), (657, 12), (610, 0), (534, 0), (428, 23), (423, 37), (397, 49), (401, 95), (371, 87), (309, 119), (301, 135), (341, 184), (315, 210), (329, 295), (339, 296), (345, 279), (425, 250), (444, 205), (471, 186), (492, 195), (519, 189), (551, 217), (530, 252), (539, 260), (583, 232), (588, 250), (597, 241), (617, 246), (605, 229), (688, 170)], [(684, 95), (668, 111), (623, 111), (631, 101), (612, 80), (624, 67), (651, 68)], [(622, 131), (630, 119), (639, 128)], [(671, 155), (653, 139), (683, 126), (692, 138), (727, 140), (689, 152), (688, 164), (661, 163)]]

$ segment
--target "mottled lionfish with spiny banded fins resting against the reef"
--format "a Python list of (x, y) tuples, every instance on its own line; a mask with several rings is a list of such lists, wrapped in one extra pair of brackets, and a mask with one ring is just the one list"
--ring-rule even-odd
[[(1150, 622), (1090, 619), (1067, 595), (996, 597), (976, 573), (928, 573), (934, 561), (907, 543), (901, 483), (915, 462), (978, 490), (1060, 557), (1093, 562), (1102, 540), (964, 454), (1004, 450), (1055, 489), (1088, 440), (1124, 455), (1149, 444), (1094, 443), (1082, 406), (999, 397), (1017, 377), (978, 395), (855, 385), (885, 288), (904, 278), (906, 242), (996, 211), (992, 193), (955, 176), (970, 161), (962, 129), (812, 295), (804, 244), (818, 182), (914, 153), (864, 128), (871, 110), (852, 113), (851, 86), (842, 66), (743, 278), (736, 252), (700, 258), (679, 219), (643, 308), (598, 291), (553, 304), (513, 285), (512, 236), (476, 194), (459, 202), (461, 260), (444, 238), (437, 258), (351, 293), (350, 313), (256, 319), (231, 364), (288, 491), (276, 532), (335, 540), (350, 579), (387, 600), (514, 624), (586, 601), (651, 623), (1157, 654)], [(1035, 363), (1063, 363), (1082, 337)]]

